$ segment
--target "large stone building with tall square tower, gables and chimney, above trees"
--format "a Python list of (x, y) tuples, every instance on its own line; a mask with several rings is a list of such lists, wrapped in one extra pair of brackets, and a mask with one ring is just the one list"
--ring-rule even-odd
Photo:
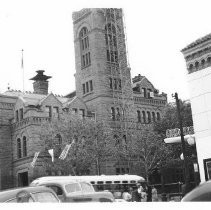
[[(131, 79), (122, 10), (83, 9), (73, 13), (73, 24), (76, 91), (65, 97), (48, 93), (51, 77), (39, 70), (31, 79), (33, 93), (8, 90), (0, 95), (0, 189), (27, 185), (34, 173), (45, 173), (41, 157), (37, 167), (30, 167), (40, 150), (40, 124), (67, 110), (104, 120), (114, 130), (161, 118), (167, 95), (140, 74)], [(124, 164), (104, 169), (104, 174), (127, 172)]]

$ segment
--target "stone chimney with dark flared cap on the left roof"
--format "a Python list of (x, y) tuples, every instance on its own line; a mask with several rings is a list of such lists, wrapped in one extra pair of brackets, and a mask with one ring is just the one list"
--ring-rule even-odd
[(34, 87), (34, 93), (36, 94), (48, 94), (48, 79), (51, 78), (51, 76), (46, 76), (43, 74), (44, 70), (38, 70), (36, 71), (37, 75), (30, 80), (34, 80), (33, 87)]

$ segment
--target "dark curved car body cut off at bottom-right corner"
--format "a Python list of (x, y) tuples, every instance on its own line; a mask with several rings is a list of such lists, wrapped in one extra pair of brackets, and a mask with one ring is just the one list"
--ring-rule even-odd
[(211, 181), (200, 184), (185, 195), (181, 201), (211, 201)]

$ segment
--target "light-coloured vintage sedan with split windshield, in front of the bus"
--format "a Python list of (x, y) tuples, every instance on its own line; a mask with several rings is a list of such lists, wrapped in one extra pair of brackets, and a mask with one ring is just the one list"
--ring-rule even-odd
[(96, 192), (87, 181), (61, 177), (41, 177), (31, 186), (46, 186), (55, 191), (61, 202), (114, 202), (111, 192)]

